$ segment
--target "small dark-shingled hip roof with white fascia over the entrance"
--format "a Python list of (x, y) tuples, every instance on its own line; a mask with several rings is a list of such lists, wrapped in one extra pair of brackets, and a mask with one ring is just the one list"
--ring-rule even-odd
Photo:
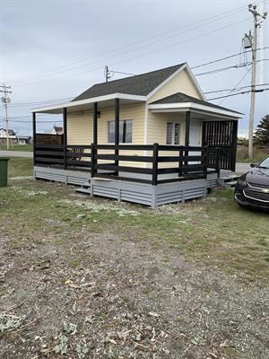
[(192, 112), (213, 115), (221, 118), (244, 117), (244, 114), (241, 112), (227, 109), (208, 101), (199, 100), (181, 92), (174, 93), (161, 100), (150, 103), (149, 109), (151, 109), (152, 112), (185, 112), (191, 110)]

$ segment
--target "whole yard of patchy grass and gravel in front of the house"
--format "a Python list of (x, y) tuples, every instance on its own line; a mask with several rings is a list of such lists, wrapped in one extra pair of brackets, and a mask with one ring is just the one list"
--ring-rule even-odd
[[(30, 165), (12, 159), (10, 177)], [(232, 190), (152, 210), (56, 183), (9, 184), (4, 357), (267, 357), (269, 217), (239, 208)]]

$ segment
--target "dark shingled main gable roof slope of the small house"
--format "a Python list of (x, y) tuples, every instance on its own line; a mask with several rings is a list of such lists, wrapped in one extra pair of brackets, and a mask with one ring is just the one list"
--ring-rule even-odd
[(91, 99), (92, 97), (104, 96), (111, 93), (128, 93), (146, 96), (185, 64), (186, 63), (161, 68), (161, 70), (146, 74), (137, 74), (115, 81), (109, 81), (108, 83), (97, 83), (75, 97), (73, 101)]

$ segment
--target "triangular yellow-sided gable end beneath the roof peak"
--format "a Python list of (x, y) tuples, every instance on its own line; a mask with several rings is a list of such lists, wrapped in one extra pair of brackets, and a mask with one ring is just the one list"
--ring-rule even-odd
[(164, 97), (177, 92), (183, 92), (189, 96), (202, 100), (199, 92), (197, 92), (195, 84), (191, 81), (189, 75), (187, 74), (187, 71), (183, 70), (161, 87), (158, 92), (155, 92), (149, 102), (163, 99)]

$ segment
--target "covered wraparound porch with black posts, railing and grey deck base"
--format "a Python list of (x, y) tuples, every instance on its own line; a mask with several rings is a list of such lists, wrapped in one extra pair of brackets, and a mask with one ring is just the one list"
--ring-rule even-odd
[[(180, 113), (185, 118), (185, 144), (122, 144), (120, 143), (120, 112), (125, 106), (142, 105), (149, 113)], [(218, 185), (221, 171), (220, 148), (213, 135), (221, 140), (221, 125), (211, 127), (209, 122), (221, 123), (220, 118), (208, 121), (210, 115), (196, 109), (172, 106), (156, 107), (146, 103), (143, 96), (114, 94), (87, 101), (68, 102), (32, 111), (34, 176), (36, 179), (56, 180), (81, 186), (80, 192), (91, 196), (112, 197), (156, 207), (172, 202), (206, 196), (207, 188)], [(99, 143), (100, 113), (113, 107), (115, 123), (114, 143)], [(144, 112), (144, 113), (145, 113)], [(63, 135), (48, 137), (37, 133), (39, 113), (62, 114)], [(68, 119), (83, 113), (91, 122), (88, 143), (70, 144)], [(148, 116), (148, 114), (146, 115)], [(199, 118), (198, 118), (199, 117)], [(145, 118), (143, 118), (143, 126)], [(195, 143), (194, 124), (203, 123), (203, 144)], [(225, 119), (227, 122), (227, 118)], [(233, 120), (230, 120), (233, 121)], [(237, 123), (237, 121), (235, 121)], [(235, 122), (233, 130), (235, 130)], [(204, 125), (206, 124), (206, 125)], [(204, 129), (207, 129), (204, 132)], [(229, 127), (231, 128), (231, 127)], [(207, 133), (207, 135), (206, 135)], [(202, 136), (202, 132), (200, 134)], [(226, 133), (226, 137), (230, 132)], [(226, 138), (225, 137), (225, 138)], [(233, 135), (236, 138), (236, 135)], [(201, 137), (202, 141), (202, 137)], [(232, 168), (230, 167), (230, 170)]]

